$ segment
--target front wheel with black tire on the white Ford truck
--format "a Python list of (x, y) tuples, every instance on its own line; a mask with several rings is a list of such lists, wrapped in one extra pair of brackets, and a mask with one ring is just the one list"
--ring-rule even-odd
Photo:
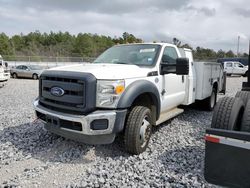
[(149, 108), (135, 106), (128, 114), (124, 143), (125, 149), (131, 154), (140, 154), (148, 146), (152, 133), (152, 117)]

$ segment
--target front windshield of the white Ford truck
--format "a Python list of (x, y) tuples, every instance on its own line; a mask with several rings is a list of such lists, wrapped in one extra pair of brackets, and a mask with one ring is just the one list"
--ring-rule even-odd
[(93, 63), (151, 66), (155, 63), (159, 51), (160, 45), (157, 44), (113, 46), (102, 53)]

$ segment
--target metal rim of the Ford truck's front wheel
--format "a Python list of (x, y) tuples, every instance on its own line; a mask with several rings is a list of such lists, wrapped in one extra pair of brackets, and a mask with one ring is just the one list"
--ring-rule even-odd
[(143, 121), (142, 121), (142, 125), (140, 128), (140, 143), (141, 143), (141, 147), (145, 147), (145, 145), (147, 144), (149, 137), (150, 137), (150, 123), (148, 121), (148, 117), (145, 116)]

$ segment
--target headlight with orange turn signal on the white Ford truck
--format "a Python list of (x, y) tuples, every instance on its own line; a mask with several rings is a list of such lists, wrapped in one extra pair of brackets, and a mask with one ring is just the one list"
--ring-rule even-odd
[(102, 108), (115, 108), (124, 90), (124, 80), (98, 80), (96, 106)]

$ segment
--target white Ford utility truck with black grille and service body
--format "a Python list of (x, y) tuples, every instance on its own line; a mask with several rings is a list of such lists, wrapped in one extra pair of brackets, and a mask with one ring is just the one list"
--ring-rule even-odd
[(152, 126), (196, 100), (208, 110), (225, 90), (219, 63), (193, 62), (192, 51), (168, 43), (117, 45), (93, 63), (57, 67), (39, 79), (35, 112), (45, 128), (89, 144), (124, 135), (125, 149), (143, 152)]

